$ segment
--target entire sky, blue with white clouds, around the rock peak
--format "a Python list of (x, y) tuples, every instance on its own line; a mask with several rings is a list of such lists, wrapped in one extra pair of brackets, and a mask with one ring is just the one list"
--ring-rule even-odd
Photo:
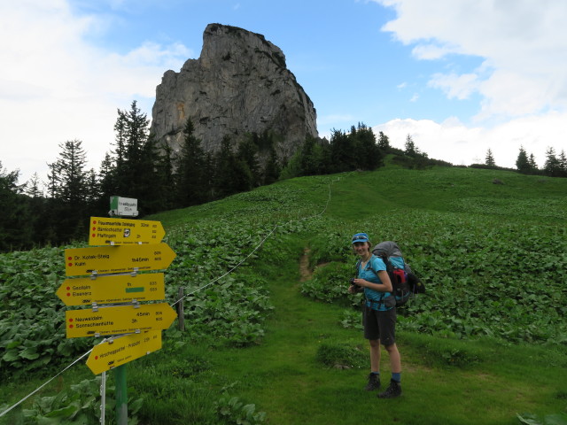
[(0, 4), (0, 161), (46, 180), (59, 143), (98, 170), (116, 110), (151, 118), (209, 23), (264, 35), (311, 97), (320, 135), (359, 121), (431, 158), (540, 166), (567, 143), (561, 0), (19, 0)]

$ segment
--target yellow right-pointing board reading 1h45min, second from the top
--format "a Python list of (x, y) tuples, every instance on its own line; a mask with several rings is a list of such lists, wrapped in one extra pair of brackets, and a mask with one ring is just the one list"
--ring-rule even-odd
[(67, 249), (65, 259), (65, 274), (80, 276), (164, 269), (175, 259), (175, 252), (167, 243), (97, 246)]

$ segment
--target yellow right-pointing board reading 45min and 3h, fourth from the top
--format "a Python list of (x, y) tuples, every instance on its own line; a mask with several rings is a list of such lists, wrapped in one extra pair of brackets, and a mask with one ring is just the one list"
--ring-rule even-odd
[(167, 303), (67, 310), (66, 336), (79, 338), (167, 329), (176, 317), (177, 313)]

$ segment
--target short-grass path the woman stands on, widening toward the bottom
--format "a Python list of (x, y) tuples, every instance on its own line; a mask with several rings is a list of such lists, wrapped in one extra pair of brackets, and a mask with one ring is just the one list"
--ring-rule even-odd
[[(340, 327), (343, 306), (300, 294), (299, 263), (308, 241), (296, 243), (296, 258), (279, 265), (279, 274), (270, 274), (276, 310), (262, 344), (213, 353), (217, 373), (239, 397), (267, 412), (269, 423), (360, 424), (383, 418), (381, 423), (512, 424), (516, 413), (552, 412), (557, 406), (566, 389), (554, 375), (564, 373), (564, 359), (549, 354), (555, 360), (544, 373), (530, 359), (522, 360), (522, 355), (543, 355), (540, 348), (401, 334), (404, 395), (394, 400), (362, 390), (367, 367), (318, 363), (321, 344), (350, 344), (365, 353), (368, 348), (358, 331)], [(451, 356), (474, 361), (451, 367)], [(385, 352), (382, 363), (387, 382)]]

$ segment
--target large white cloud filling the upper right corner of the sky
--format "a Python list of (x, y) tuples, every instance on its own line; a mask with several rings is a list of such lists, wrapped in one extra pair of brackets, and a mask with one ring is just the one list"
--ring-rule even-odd
[[(567, 107), (567, 3), (555, 0), (375, 0), (395, 8), (383, 30), (416, 44), (416, 58), (448, 54), (485, 58), (470, 73), (431, 79), (447, 96), (484, 98), (478, 118), (519, 117)], [(442, 82), (441, 82), (442, 81)]]

